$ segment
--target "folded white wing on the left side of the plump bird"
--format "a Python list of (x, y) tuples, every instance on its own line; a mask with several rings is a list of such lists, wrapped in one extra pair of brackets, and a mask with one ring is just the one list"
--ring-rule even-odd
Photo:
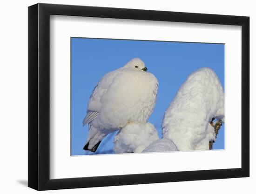
[(101, 110), (101, 97), (108, 92), (113, 79), (118, 74), (119, 70), (109, 72), (104, 75), (94, 87), (93, 93), (90, 96), (87, 108), (87, 115), (83, 120), (83, 126), (94, 120)]

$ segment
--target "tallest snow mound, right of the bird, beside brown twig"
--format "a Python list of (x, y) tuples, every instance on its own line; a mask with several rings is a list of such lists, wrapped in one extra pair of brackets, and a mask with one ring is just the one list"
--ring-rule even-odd
[(224, 119), (224, 92), (213, 70), (190, 74), (164, 114), (162, 134), (179, 150), (209, 149), (215, 140), (213, 119)]

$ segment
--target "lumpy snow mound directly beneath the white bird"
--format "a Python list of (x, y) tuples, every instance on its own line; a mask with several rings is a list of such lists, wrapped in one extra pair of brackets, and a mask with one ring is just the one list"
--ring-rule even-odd
[(115, 136), (113, 149), (118, 154), (138, 153), (158, 139), (157, 131), (151, 123), (129, 123)]

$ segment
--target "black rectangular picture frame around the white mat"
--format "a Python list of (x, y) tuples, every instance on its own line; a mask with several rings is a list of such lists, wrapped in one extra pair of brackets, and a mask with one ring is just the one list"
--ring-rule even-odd
[[(242, 167), (218, 170), (50, 179), (50, 15), (242, 26)], [(36, 4), (28, 7), (28, 187), (102, 187), (249, 176), (249, 17), (123, 8)]]

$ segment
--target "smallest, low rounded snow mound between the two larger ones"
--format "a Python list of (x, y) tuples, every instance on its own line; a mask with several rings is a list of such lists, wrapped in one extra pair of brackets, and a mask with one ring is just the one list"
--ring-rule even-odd
[(155, 140), (142, 152), (173, 152), (179, 151), (175, 143), (172, 140), (163, 138), (160, 140)]

